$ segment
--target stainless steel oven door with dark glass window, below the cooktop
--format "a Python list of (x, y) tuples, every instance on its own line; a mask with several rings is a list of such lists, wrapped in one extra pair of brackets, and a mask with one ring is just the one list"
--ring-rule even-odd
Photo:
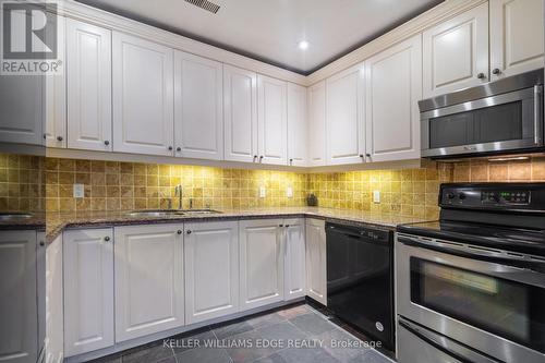
[[(398, 234), (398, 314), (502, 362), (544, 362), (545, 275), (523, 261)], [(532, 264), (542, 269), (545, 261)]]

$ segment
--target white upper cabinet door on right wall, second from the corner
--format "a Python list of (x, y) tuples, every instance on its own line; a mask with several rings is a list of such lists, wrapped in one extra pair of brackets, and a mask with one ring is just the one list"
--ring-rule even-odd
[(363, 64), (327, 78), (327, 164), (363, 162), (364, 98)]

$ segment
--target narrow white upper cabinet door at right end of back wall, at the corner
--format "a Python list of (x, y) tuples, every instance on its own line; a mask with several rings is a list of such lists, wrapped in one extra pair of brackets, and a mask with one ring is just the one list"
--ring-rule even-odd
[(306, 167), (306, 87), (288, 83), (288, 165)]

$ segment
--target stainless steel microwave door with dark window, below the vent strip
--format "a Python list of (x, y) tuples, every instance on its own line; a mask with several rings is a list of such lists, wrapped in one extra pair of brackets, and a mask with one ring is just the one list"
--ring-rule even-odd
[(542, 86), (423, 112), (421, 123), (423, 157), (541, 147)]

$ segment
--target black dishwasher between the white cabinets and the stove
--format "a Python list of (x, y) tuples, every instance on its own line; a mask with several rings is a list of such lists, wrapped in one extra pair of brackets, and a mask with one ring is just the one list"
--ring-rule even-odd
[(393, 232), (326, 223), (327, 308), (393, 349)]

